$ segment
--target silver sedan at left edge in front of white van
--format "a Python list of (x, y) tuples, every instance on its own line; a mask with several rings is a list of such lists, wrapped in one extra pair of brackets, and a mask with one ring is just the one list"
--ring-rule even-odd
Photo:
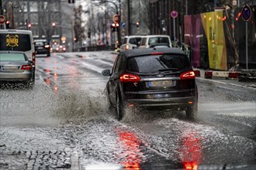
[(0, 81), (22, 81), (33, 83), (33, 63), (25, 53), (0, 52)]

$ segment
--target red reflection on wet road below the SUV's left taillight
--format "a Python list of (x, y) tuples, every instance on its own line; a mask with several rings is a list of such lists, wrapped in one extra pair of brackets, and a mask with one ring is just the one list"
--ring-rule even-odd
[(130, 131), (117, 131), (119, 135), (119, 141), (123, 147), (122, 158), (125, 158), (121, 164), (125, 166), (126, 169), (139, 170), (140, 162), (143, 153), (140, 151), (141, 140), (136, 134)]

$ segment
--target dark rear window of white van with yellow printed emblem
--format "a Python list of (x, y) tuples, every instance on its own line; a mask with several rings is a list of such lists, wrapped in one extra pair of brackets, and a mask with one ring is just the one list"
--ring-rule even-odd
[(19, 33), (0, 34), (0, 50), (29, 51), (31, 50), (30, 36)]

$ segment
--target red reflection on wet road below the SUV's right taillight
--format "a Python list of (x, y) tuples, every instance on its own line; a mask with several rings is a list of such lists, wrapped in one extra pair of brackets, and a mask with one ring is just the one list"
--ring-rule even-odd
[(186, 170), (197, 170), (202, 160), (202, 147), (200, 138), (195, 133), (187, 134), (182, 139), (182, 163)]

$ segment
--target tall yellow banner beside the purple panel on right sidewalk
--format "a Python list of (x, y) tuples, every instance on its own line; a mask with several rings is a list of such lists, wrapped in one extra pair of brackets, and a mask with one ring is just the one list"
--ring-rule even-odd
[(223, 11), (201, 14), (208, 42), (209, 68), (227, 70), (227, 51), (223, 30)]

